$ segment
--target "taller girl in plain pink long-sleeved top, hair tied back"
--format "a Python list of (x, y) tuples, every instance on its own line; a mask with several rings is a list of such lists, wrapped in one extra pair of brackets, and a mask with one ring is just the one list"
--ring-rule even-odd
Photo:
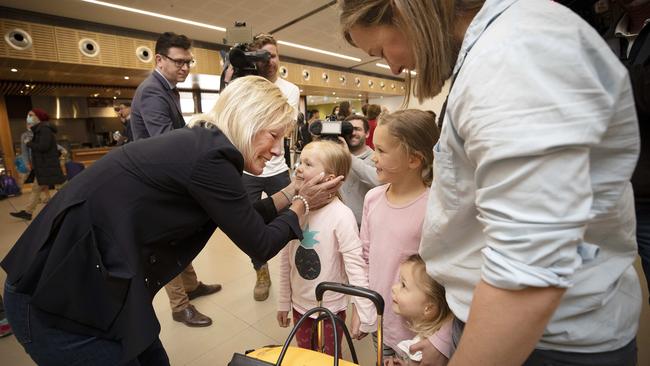
[[(370, 289), (381, 294), (389, 304), (391, 287), (399, 279), (400, 263), (417, 254), (420, 246), (427, 196), (433, 180), (433, 145), (438, 141), (435, 115), (414, 109), (382, 115), (374, 139), (373, 161), (379, 180), (386, 184), (366, 194), (361, 241), (363, 257), (368, 263)], [(353, 336), (361, 338), (364, 335), (353, 333)], [(391, 306), (386, 306), (385, 357), (392, 357), (399, 342), (414, 336), (406, 322)], [(449, 353), (447, 349), (439, 351)]]

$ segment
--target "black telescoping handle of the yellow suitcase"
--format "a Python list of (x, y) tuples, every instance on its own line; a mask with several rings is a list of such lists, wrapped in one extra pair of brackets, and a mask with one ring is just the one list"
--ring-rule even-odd
[[(323, 294), (325, 293), (325, 291), (334, 291), (334, 292), (340, 292), (342, 294), (346, 294), (350, 296), (363, 297), (369, 299), (370, 301), (372, 301), (373, 304), (375, 304), (375, 308), (377, 309), (377, 366), (383, 366), (384, 364), (384, 352), (383, 352), (384, 350), (383, 347), (384, 298), (382, 298), (381, 295), (378, 294), (377, 292), (373, 290), (369, 290), (367, 288), (348, 285), (344, 283), (321, 282), (316, 286), (316, 301), (318, 301), (319, 306), (322, 306)], [(319, 327), (318, 343), (320, 346), (321, 339), (322, 339), (322, 328), (320, 326), (320, 323), (318, 327)]]

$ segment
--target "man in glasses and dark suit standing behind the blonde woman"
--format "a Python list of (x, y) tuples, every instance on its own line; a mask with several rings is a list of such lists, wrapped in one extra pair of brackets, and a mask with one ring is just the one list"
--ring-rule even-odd
[[(156, 42), (156, 68), (138, 86), (131, 103), (131, 131), (139, 140), (182, 128), (185, 120), (181, 112), (177, 83), (182, 83), (194, 65), (190, 52), (192, 41), (184, 35), (163, 33)], [(190, 304), (198, 296), (221, 290), (221, 285), (206, 285), (198, 281), (190, 265), (165, 285), (172, 308), (172, 317), (189, 327), (207, 327), (212, 319), (201, 314)]]

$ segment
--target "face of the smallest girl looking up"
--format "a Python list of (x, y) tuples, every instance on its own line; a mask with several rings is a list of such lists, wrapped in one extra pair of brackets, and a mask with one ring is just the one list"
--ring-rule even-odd
[(399, 282), (393, 285), (393, 311), (408, 320), (422, 319), (425, 308), (433, 306), (424, 291), (417, 286), (413, 263), (399, 268)]

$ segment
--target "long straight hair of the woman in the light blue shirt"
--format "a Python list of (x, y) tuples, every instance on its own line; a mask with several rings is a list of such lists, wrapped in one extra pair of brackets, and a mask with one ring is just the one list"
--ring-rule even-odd
[[(485, 0), (339, 0), (343, 36), (353, 46), (354, 26), (394, 26), (411, 40), (417, 76), (406, 73), (406, 90), (420, 102), (433, 98), (451, 76), (462, 40), (454, 39), (458, 14), (480, 8)], [(406, 93), (408, 104), (410, 93)]]

